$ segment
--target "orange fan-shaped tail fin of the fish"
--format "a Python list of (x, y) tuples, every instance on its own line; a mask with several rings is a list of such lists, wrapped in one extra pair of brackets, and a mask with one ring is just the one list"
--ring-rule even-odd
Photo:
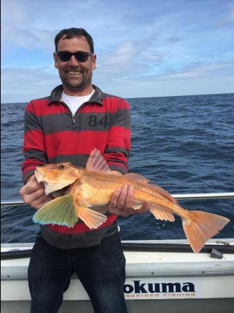
[(183, 219), (183, 230), (194, 252), (199, 252), (206, 241), (215, 236), (229, 222), (228, 218), (203, 211), (188, 211)]

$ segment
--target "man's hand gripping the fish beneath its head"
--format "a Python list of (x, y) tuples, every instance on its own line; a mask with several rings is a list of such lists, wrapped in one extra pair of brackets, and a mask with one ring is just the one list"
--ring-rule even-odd
[(26, 184), (19, 191), (24, 203), (34, 209), (40, 209), (44, 204), (53, 200), (51, 195), (44, 194), (44, 185), (37, 182), (35, 175), (29, 177)]

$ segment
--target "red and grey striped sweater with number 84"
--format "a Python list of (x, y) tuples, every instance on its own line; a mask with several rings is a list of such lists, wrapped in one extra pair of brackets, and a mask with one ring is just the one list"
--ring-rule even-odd
[[(56, 87), (49, 97), (32, 100), (26, 106), (24, 182), (34, 173), (36, 166), (45, 163), (67, 161), (85, 167), (95, 147), (103, 154), (111, 170), (123, 174), (128, 171), (131, 145), (129, 104), (125, 99), (107, 95), (97, 86), (93, 87), (94, 95), (75, 115), (61, 101), (62, 85)], [(115, 218), (108, 216), (100, 228), (110, 225)], [(58, 225), (49, 225), (49, 228), (66, 234), (91, 231), (80, 221), (72, 229)]]

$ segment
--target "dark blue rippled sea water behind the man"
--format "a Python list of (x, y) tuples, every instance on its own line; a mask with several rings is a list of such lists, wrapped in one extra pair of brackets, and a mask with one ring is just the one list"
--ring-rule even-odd
[[(169, 193), (234, 192), (234, 94), (128, 99), (131, 105), (129, 172)], [(20, 200), (26, 103), (1, 104), (1, 200)], [(231, 220), (219, 238), (234, 237), (234, 199), (180, 200), (188, 209)], [(33, 242), (34, 209), (1, 207), (1, 242)], [(119, 217), (122, 240), (185, 239), (174, 223), (152, 214)]]

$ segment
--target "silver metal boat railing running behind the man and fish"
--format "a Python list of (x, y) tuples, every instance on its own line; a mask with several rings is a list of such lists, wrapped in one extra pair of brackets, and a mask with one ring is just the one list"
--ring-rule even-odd
[[(172, 194), (176, 200), (199, 200), (199, 199), (227, 199), (234, 198), (234, 193), (176, 193)], [(26, 205), (22, 200), (3, 200), (1, 206), (17, 207)]]

